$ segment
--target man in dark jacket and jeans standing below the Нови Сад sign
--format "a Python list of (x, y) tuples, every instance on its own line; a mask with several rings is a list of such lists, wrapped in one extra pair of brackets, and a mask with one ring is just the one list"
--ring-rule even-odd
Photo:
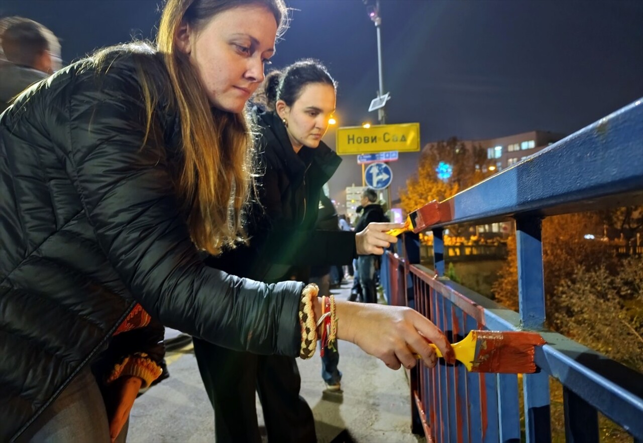
[[(362, 214), (355, 229), (363, 229), (368, 223), (388, 222), (382, 206), (377, 202), (377, 191), (372, 187), (364, 189), (361, 196)], [(377, 303), (376, 267), (379, 257), (372, 254), (358, 257), (359, 285), (363, 300), (367, 303)]]

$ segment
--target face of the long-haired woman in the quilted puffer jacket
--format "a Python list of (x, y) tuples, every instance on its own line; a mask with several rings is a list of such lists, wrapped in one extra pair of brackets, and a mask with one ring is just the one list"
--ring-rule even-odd
[(196, 31), (183, 25), (178, 48), (190, 56), (214, 107), (239, 113), (264, 80), (264, 62), (275, 53), (277, 23), (257, 4), (221, 12)]

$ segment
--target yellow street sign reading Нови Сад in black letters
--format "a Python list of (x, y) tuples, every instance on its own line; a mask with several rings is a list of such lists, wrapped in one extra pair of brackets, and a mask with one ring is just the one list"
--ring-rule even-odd
[(337, 153), (368, 154), (386, 151), (420, 150), (420, 124), (347, 126), (337, 129)]

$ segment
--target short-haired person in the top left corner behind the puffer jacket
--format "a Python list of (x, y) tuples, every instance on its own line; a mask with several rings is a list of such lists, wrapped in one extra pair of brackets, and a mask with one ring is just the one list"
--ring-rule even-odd
[(60, 69), (60, 42), (48, 28), (23, 17), (0, 19), (0, 112), (35, 82)]

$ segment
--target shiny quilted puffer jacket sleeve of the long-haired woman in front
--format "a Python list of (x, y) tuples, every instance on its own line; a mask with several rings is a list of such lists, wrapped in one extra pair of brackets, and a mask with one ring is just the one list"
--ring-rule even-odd
[(208, 268), (179, 212), (165, 147), (145, 135), (134, 72), (113, 65), (68, 88), (68, 173), (100, 247), (134, 299), (166, 326), (217, 345), (296, 356), (303, 284), (262, 284)]

